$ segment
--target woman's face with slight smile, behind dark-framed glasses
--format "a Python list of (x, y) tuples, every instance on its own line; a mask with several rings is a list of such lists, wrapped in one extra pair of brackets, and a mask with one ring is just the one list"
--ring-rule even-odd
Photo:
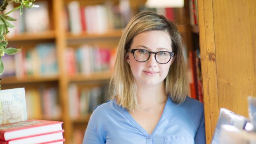
[[(136, 35), (130, 49), (143, 49), (149, 52), (168, 51), (173, 52), (171, 38), (164, 31), (146, 31)], [(141, 51), (144, 53), (144, 51)], [(151, 54), (145, 62), (136, 61), (131, 52), (128, 52), (126, 61), (130, 63), (130, 68), (137, 85), (158, 85), (163, 84), (173, 57), (166, 64), (156, 62), (154, 54)]]

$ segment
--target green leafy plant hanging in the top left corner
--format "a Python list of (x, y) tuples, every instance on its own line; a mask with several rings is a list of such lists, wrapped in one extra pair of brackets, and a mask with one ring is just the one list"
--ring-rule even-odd
[[(2, 57), (4, 57), (5, 54), (8, 54), (8, 55), (16, 54), (21, 50), (21, 48), (7, 47), (8, 42), (7, 42), (7, 39), (5, 39), (5, 35), (9, 33), (9, 28), (14, 28), (14, 25), (12, 25), (9, 21), (16, 20), (16, 19), (13, 19), (12, 17), (9, 17), (8, 14), (16, 11), (17, 9), (20, 9), (20, 14), (22, 14), (24, 6), (27, 8), (39, 7), (38, 5), (33, 5), (34, 1), (35, 0), (11, 0), (11, 1), (0, 0), (0, 11), (2, 12), (0, 14), (0, 80), (1, 80), (1, 75), (4, 72), (4, 64), (2, 63)], [(6, 9), (8, 3), (10, 2), (19, 3), (20, 5), (4, 14), (3, 11)], [(1, 85), (0, 85), (0, 90), (1, 90)]]

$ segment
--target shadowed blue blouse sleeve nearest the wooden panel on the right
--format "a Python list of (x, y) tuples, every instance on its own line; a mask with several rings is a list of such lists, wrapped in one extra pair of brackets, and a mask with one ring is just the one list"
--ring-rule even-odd
[(205, 125), (204, 125), (204, 111), (202, 111), (201, 123), (198, 127), (196, 136), (195, 136), (195, 144), (206, 144), (205, 139)]

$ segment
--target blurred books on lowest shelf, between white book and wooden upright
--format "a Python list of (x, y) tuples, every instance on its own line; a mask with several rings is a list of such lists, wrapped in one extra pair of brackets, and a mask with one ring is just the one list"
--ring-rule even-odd
[(27, 89), (26, 108), (29, 119), (59, 119), (61, 109), (56, 87)]

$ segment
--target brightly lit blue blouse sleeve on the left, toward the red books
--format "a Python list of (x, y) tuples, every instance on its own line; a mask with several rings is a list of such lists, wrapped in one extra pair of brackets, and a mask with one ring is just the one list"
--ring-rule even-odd
[[(96, 108), (95, 108), (96, 109)], [(102, 119), (104, 113), (100, 109), (93, 111), (83, 137), (83, 144), (105, 144), (106, 132)]]

